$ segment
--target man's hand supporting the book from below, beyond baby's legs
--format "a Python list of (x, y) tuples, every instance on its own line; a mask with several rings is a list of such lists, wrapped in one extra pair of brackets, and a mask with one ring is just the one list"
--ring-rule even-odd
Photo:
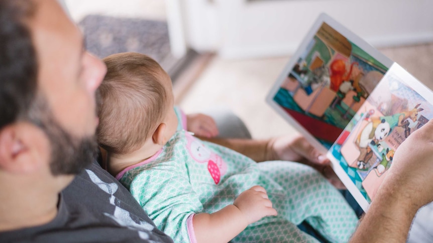
[(343, 182), (331, 168), (331, 161), (315, 149), (303, 136), (273, 138), (268, 143), (267, 160), (296, 161), (319, 171), (337, 188), (345, 189)]

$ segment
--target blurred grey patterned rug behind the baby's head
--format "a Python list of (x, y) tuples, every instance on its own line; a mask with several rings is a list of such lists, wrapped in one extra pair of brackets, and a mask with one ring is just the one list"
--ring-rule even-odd
[(99, 58), (138, 52), (155, 59), (169, 73), (178, 61), (170, 53), (166, 22), (89, 15), (78, 26), (87, 50)]

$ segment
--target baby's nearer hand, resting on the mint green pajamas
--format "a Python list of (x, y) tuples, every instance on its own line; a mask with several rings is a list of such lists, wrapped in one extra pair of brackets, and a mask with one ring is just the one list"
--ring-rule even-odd
[(244, 214), (248, 224), (256, 222), (265, 216), (277, 215), (277, 210), (272, 207), (265, 188), (253, 186), (242, 192), (233, 203)]

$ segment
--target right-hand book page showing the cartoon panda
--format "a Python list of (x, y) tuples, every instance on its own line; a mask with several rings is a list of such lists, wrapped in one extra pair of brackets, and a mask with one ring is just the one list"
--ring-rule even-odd
[(366, 211), (398, 146), (433, 118), (433, 93), (393, 64), (328, 152), (333, 168)]

